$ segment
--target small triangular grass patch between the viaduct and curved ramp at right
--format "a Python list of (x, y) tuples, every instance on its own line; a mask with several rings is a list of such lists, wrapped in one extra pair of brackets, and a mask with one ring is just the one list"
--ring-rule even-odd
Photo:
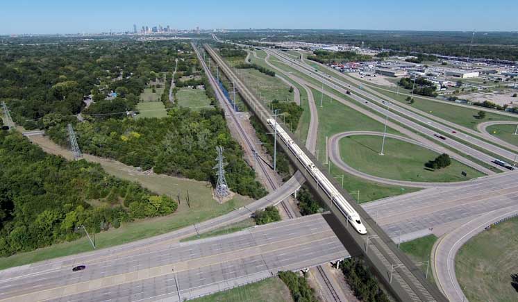
[[(430, 260), (430, 254), (432, 253), (433, 244), (437, 241), (435, 235), (428, 235), (425, 237), (417, 238), (409, 242), (403, 242), (399, 248), (401, 251), (406, 253), (408, 257), (419, 267), (424, 274), (426, 274), (426, 263), (424, 265), (418, 265), (419, 262), (425, 262)], [(435, 279), (432, 274), (432, 266), (428, 267), (428, 280), (435, 284)]]

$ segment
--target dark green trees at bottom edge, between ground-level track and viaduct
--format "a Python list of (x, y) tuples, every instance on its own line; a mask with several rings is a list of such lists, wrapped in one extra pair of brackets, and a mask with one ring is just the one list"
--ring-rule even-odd
[(389, 302), (387, 295), (378, 285), (378, 280), (371, 274), (365, 261), (360, 258), (348, 258), (340, 262), (340, 269), (345, 280), (351, 286), (354, 295), (360, 301)]

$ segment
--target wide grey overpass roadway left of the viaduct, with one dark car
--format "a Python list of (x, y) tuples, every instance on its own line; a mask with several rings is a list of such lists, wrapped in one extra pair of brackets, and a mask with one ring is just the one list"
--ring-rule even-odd
[[(183, 300), (347, 255), (324, 218), (312, 215), (132, 255), (0, 271), (0, 301), (178, 301), (177, 285)], [(73, 272), (76, 265), (86, 269)]]

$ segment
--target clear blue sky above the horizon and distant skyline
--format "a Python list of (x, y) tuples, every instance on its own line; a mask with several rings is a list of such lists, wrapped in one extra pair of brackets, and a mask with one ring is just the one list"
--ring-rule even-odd
[(516, 0), (3, 0), (0, 34), (172, 28), (518, 31)]

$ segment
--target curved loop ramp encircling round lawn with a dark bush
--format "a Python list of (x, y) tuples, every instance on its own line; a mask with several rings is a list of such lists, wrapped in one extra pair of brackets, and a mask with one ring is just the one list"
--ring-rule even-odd
[[(360, 178), (366, 179), (367, 181), (374, 181), (376, 183), (384, 183), (385, 185), (396, 185), (396, 186), (404, 186), (404, 187), (459, 187), (461, 185), (467, 185), (466, 181), (461, 182), (450, 182), (450, 183), (426, 183), (426, 182), (419, 182), (419, 181), (398, 181), (395, 179), (388, 179), (378, 176), (373, 176), (367, 173), (363, 173), (362, 171), (358, 171), (357, 169), (354, 169), (353, 167), (347, 165), (343, 160), (342, 156), (340, 156), (340, 140), (344, 137), (348, 137), (351, 135), (376, 135), (376, 136), (383, 136), (383, 132), (374, 132), (374, 131), (348, 131), (348, 132), (342, 132), (337, 133), (329, 138), (329, 145), (328, 145), (328, 154), (330, 160), (333, 162), (333, 164), (340, 167), (340, 169), (346, 171), (346, 173), (358, 176)], [(386, 137), (392, 137), (397, 140), (402, 140), (403, 142), (409, 142), (410, 144), (417, 144), (418, 146), (422, 146), (423, 148), (430, 149), (432, 151), (435, 151), (437, 153), (440, 153), (440, 150), (433, 149), (429, 147), (426, 144), (423, 144), (421, 142), (417, 142), (416, 140), (411, 140), (408, 137), (404, 137), (401, 135), (395, 135), (386, 133)]]

